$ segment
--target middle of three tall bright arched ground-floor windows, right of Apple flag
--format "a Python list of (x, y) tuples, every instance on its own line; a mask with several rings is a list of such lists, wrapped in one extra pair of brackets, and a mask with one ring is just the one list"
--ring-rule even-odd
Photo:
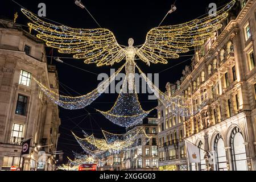
[(214, 139), (214, 151), (216, 152), (216, 169), (218, 171), (227, 171), (226, 150), (224, 140), (221, 138), (220, 134), (217, 134), (216, 138)]

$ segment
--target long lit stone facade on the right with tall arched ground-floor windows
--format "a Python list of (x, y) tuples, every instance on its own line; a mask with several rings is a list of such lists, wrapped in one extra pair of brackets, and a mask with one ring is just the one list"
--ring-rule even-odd
[[(183, 96), (192, 116), (173, 115), (170, 108), (159, 104), (159, 166), (256, 170), (255, 14), (256, 1), (237, 1), (221, 30), (196, 48), (181, 79), (167, 84), (166, 94)], [(184, 139), (201, 148), (201, 163), (181, 160), (186, 151), (181, 148), (185, 148)], [(213, 154), (212, 165), (205, 160), (204, 150)]]

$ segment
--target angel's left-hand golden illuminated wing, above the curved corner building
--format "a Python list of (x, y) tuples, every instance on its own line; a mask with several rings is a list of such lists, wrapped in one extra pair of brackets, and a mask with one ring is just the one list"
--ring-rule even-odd
[(32, 21), (28, 26), (39, 32), (37, 37), (47, 46), (59, 49), (60, 53), (70, 53), (75, 59), (85, 59), (84, 63), (96, 63), (97, 66), (113, 65), (125, 57), (123, 48), (108, 29), (56, 26), (25, 9), (22, 13)]

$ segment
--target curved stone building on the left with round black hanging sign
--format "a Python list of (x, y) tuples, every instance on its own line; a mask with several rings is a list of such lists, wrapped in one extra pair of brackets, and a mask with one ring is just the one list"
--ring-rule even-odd
[[(0, 170), (52, 170), (59, 110), (33, 77), (58, 92), (56, 68), (47, 65), (43, 42), (9, 20), (0, 21)], [(19, 164), (20, 144), (28, 138), (30, 154)], [(38, 165), (42, 157), (46, 163)]]

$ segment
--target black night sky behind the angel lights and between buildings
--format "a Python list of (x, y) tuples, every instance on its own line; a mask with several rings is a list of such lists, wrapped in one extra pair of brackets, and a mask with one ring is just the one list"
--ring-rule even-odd
[[(147, 32), (158, 26), (166, 13), (170, 10), (175, 0), (129, 0), (129, 1), (95, 1), (82, 0), (82, 3), (94, 16), (102, 28), (108, 28), (112, 31), (119, 44), (127, 46), (127, 40), (133, 38), (134, 45), (144, 43)], [(177, 10), (167, 16), (162, 25), (179, 24), (195, 19), (198, 16), (207, 13), (209, 3), (216, 2), (220, 7), (229, 0), (177, 0)], [(16, 0), (20, 5), (33, 13), (38, 12), (38, 4), (46, 3), (46, 18), (65, 24), (74, 28), (98, 28), (97, 24), (86, 12), (75, 5), (75, 0)], [(18, 12), (19, 17), (16, 23), (27, 24), (28, 20), (21, 13), (20, 6), (11, 0), (1, 0), (0, 2), (1, 18), (13, 19)], [(27, 27), (24, 30), (28, 31)], [(35, 34), (35, 32), (32, 32)], [(49, 56), (50, 49), (47, 48)], [(144, 73), (160, 73), (160, 90), (164, 92), (167, 82), (176, 82), (181, 76), (181, 72), (185, 65), (190, 64), (193, 52), (185, 53), (180, 59), (170, 60), (168, 64), (151, 64), (147, 67), (142, 61), (137, 61), (139, 67)], [(53, 56), (72, 57), (72, 55), (60, 55), (55, 49)], [(86, 94), (97, 88), (101, 81), (97, 81), (97, 74), (107, 73), (110, 75), (110, 67), (96, 67), (95, 64), (84, 64), (83, 60), (62, 59), (65, 63), (79, 67), (77, 69), (67, 64), (57, 63), (57, 71), (59, 73), (60, 93), (70, 96), (79, 96)], [(50, 63), (51, 59), (48, 60)], [(182, 63), (184, 62), (184, 63)], [(118, 69), (125, 62), (114, 64), (112, 68)], [(179, 64), (179, 65), (177, 65)], [(170, 68), (170, 69), (168, 69)], [(90, 73), (92, 72), (92, 73)], [(93, 74), (96, 73), (96, 74)], [(94, 133), (97, 137), (102, 137), (101, 129), (112, 133), (123, 133), (125, 129), (114, 125), (108, 121), (103, 115), (96, 112), (95, 109), (107, 111), (111, 109), (117, 99), (117, 94), (102, 94), (92, 105), (81, 110), (65, 110), (60, 108), (61, 126), (59, 128), (60, 138), (58, 150), (64, 151), (64, 159), (66, 156), (73, 157), (72, 151), (82, 152), (82, 148), (77, 144), (71, 134), (71, 130), (82, 137), (82, 130), (88, 133)], [(144, 110), (150, 110), (157, 106), (157, 101), (149, 101), (147, 94), (139, 94), (139, 100)], [(149, 117), (156, 117), (156, 111), (153, 111)]]

